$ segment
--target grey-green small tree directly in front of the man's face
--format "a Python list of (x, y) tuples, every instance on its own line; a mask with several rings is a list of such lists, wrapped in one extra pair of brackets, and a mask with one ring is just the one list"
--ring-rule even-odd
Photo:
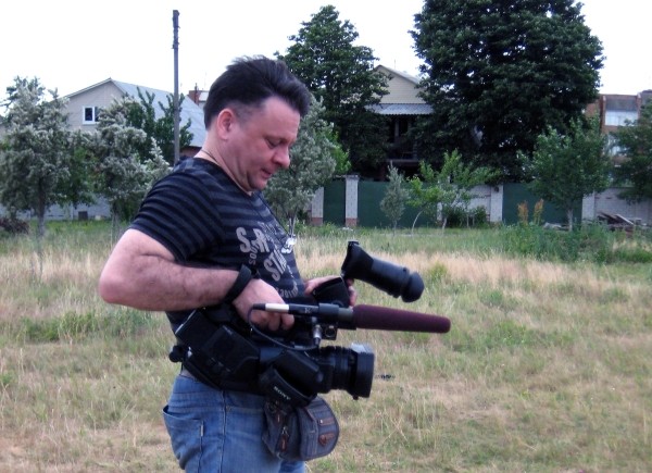
[(322, 117), (323, 114), (323, 104), (313, 96), (310, 112), (302, 119), (292, 146), (290, 166), (276, 173), (265, 188), (265, 199), (276, 214), (288, 220), (290, 235), (294, 235), (299, 213), (311, 202), (315, 191), (333, 177), (335, 155), (342, 154), (333, 125)]

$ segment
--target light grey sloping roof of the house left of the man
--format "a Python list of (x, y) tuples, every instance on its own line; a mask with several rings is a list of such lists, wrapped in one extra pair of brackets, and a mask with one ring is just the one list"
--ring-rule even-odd
[[(167, 105), (167, 96), (171, 96), (172, 92), (153, 89), (151, 87), (139, 86), (135, 84), (124, 83), (121, 80), (115, 80), (112, 78), (108, 78), (106, 80), (102, 80), (101, 83), (95, 84), (90, 87), (86, 87), (85, 89), (78, 90), (76, 92), (70, 94), (67, 97), (73, 97), (79, 94), (84, 94), (90, 89), (93, 89), (99, 86), (103, 86), (105, 84), (112, 83), (117, 87), (123, 94), (128, 95), (135, 99), (138, 99), (138, 90), (140, 89), (143, 96), (147, 94), (151, 94), (154, 96), (154, 116), (160, 119), (163, 116), (163, 111), (161, 107), (158, 107), (158, 103), (162, 103), (163, 105)], [(189, 132), (192, 134), (192, 140), (190, 146), (201, 148), (203, 145), (206, 130), (203, 123), (203, 109), (190, 100), (188, 97), (184, 97), (184, 101), (180, 103), (180, 115), (179, 115), (179, 126), (185, 126), (188, 120), (190, 120), (190, 128)]]

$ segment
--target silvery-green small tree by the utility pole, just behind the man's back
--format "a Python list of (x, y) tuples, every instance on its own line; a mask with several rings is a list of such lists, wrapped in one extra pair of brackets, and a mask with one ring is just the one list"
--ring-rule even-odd
[[(139, 107), (130, 97), (115, 100), (102, 110), (91, 145), (97, 157), (97, 191), (111, 207), (113, 228), (129, 217), (151, 185), (168, 172), (152, 138), (129, 124), (129, 113)], [(148, 150), (141, 154), (141, 150)]]

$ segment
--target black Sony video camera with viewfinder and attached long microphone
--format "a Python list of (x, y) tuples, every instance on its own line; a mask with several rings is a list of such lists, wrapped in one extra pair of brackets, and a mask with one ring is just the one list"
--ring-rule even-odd
[(305, 406), (317, 393), (331, 389), (346, 389), (354, 399), (368, 397), (374, 376), (372, 348), (362, 344), (319, 347), (322, 340), (335, 340), (338, 328), (447, 333), (450, 321), (375, 306), (349, 307), (347, 279), (363, 281), (405, 302), (417, 300), (424, 289), (417, 273), (373, 258), (358, 241), (349, 241), (340, 277), (317, 287), (310, 303), (251, 308), (293, 314), (290, 331), (262, 332), (230, 307), (196, 310), (175, 332), (179, 344), (170, 358), (214, 387), (255, 391), (296, 406)]

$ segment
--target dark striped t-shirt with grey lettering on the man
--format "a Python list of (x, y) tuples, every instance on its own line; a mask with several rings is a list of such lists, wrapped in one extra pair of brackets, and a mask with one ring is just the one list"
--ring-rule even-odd
[[(303, 295), (293, 252), (281, 252), (288, 235), (260, 192), (243, 192), (206, 160), (185, 159), (159, 181), (131, 228), (162, 244), (179, 263), (234, 270), (247, 264), (281, 298)], [(188, 314), (167, 316), (174, 326)]]

